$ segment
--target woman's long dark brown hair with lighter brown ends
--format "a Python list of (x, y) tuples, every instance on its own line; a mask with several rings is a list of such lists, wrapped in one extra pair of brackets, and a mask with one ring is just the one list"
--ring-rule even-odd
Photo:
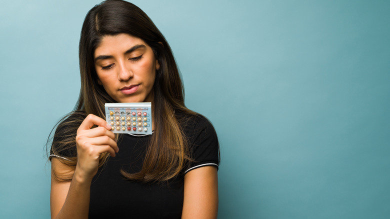
[[(106, 0), (88, 11), (82, 25), (79, 43), (81, 88), (72, 114), (85, 116), (92, 113), (105, 118), (104, 103), (115, 102), (97, 82), (93, 53), (104, 35), (119, 33), (127, 33), (142, 39), (152, 48), (160, 64), (153, 85), (154, 133), (146, 150), (142, 169), (137, 173), (123, 170), (121, 173), (128, 179), (141, 181), (168, 180), (178, 175), (189, 163), (189, 146), (181, 126), (188, 116), (196, 113), (184, 105), (182, 80), (169, 44), (151, 19), (134, 4), (122, 0)], [(178, 120), (175, 112), (187, 116)], [(51, 154), (58, 153), (55, 148), (75, 148), (76, 129), (80, 120), (65, 119), (67, 122), (59, 123), (57, 130), (66, 127), (66, 135), (57, 140), (59, 138), (55, 135), (59, 133), (57, 131), (54, 133)], [(69, 125), (69, 122), (76, 125)], [(103, 165), (107, 157), (108, 153), (102, 154), (99, 166)], [(77, 157), (60, 160), (75, 168)], [(58, 180), (71, 179), (71, 176), (60, 176), (55, 173), (54, 176)]]

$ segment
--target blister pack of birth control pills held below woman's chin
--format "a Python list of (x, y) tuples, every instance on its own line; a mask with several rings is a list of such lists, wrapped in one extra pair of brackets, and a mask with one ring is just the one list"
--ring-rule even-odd
[(112, 132), (151, 134), (151, 102), (105, 103), (104, 107)]

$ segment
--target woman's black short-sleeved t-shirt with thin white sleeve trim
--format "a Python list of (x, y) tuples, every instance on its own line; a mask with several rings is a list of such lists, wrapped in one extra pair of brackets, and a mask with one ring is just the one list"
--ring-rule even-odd
[[(141, 169), (151, 135), (121, 134), (119, 152), (115, 157), (109, 157), (92, 179), (89, 218), (180, 218), (184, 174), (197, 167), (217, 167), (219, 164), (217, 136), (205, 117), (192, 116), (182, 128), (188, 138), (194, 162), (177, 177), (154, 183), (127, 180), (120, 173), (120, 169), (127, 172)], [(54, 138), (60, 135), (61, 130), (56, 130)], [(60, 148), (56, 149), (58, 151)], [(75, 154), (74, 145), (72, 149), (63, 150), (58, 155), (66, 158)]]

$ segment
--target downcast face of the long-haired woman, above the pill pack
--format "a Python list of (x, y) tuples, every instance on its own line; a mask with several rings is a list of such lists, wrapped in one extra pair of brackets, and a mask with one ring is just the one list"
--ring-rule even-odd
[(149, 45), (129, 34), (105, 35), (94, 54), (98, 83), (117, 102), (151, 102), (160, 67)]

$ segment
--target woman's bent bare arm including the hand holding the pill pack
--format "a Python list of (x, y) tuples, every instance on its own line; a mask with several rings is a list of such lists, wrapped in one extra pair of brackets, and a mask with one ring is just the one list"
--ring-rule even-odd
[[(99, 127), (91, 128), (93, 125)], [(115, 156), (115, 152), (118, 152), (115, 135), (109, 130), (110, 126), (104, 119), (89, 114), (77, 129), (75, 170), (58, 158), (51, 159), (51, 172), (73, 173), (70, 182), (59, 182), (51, 177), (51, 218), (88, 218), (90, 184), (97, 172), (99, 156), (103, 152)]]

